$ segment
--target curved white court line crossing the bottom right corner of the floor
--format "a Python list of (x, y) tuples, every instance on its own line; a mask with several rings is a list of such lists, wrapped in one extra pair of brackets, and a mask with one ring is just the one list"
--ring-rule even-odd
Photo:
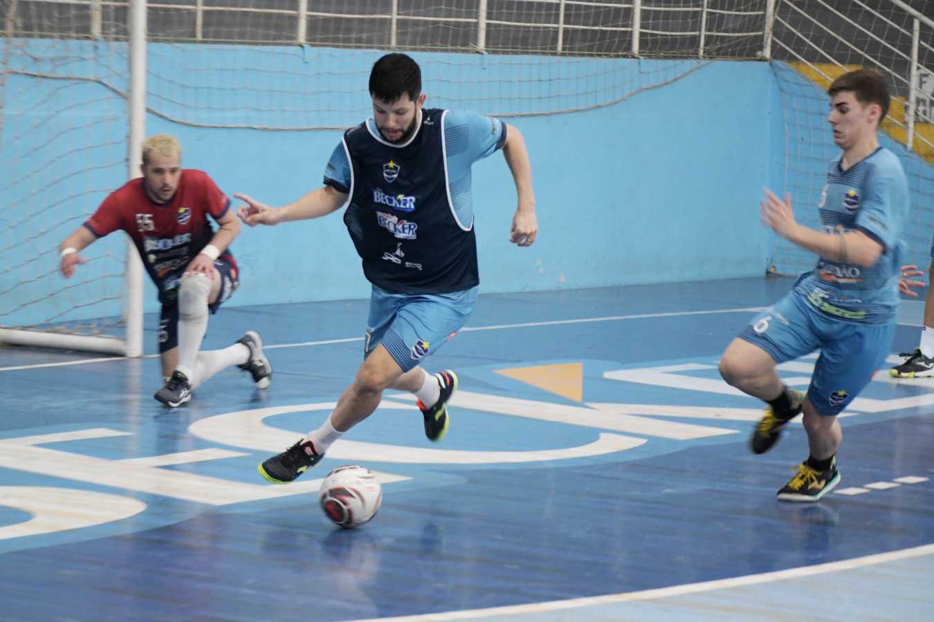
[(715, 589), (729, 589), (731, 587), (756, 586), (773, 581), (784, 581), (786, 579), (797, 579), (802, 576), (814, 576), (814, 574), (837, 573), (846, 570), (854, 570), (866, 566), (873, 566), (889, 561), (907, 560), (910, 558), (922, 557), (924, 555), (934, 554), (934, 545), (915, 546), (914, 548), (904, 548), (900, 551), (890, 551), (888, 553), (878, 553), (876, 555), (867, 555), (866, 557), (854, 558), (853, 560), (830, 561), (828, 563), (817, 564), (815, 566), (802, 566), (800, 568), (789, 568), (787, 570), (775, 571), (773, 573), (747, 574), (746, 576), (737, 576), (731, 579), (717, 579), (715, 581), (704, 581), (703, 583), (689, 583), (683, 586), (660, 587), (658, 589), (646, 589), (641, 592), (625, 592), (622, 594), (607, 594), (605, 596), (592, 596), (582, 599), (569, 599), (567, 601), (547, 601), (532, 602), (530, 604), (510, 605), (506, 607), (490, 607), (489, 609), (473, 609), (464, 611), (449, 611), (441, 614), (424, 615), (400, 615), (397, 617), (378, 617), (366, 620), (357, 620), (356, 622), (427, 622), (428, 620), (468, 620), (484, 617), (493, 617), (498, 615), (525, 615), (542, 614), (546, 612), (560, 611), (565, 609), (578, 609), (580, 607), (593, 607), (600, 605), (612, 605), (621, 602), (632, 601), (654, 601), (656, 599), (669, 598), (674, 596), (684, 596), (686, 594), (698, 594), (700, 592), (709, 592)]

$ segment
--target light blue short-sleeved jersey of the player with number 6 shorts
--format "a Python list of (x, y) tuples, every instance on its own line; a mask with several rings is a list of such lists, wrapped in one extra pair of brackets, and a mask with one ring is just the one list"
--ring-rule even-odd
[(898, 312), (899, 236), (908, 216), (908, 180), (899, 159), (882, 147), (846, 171), (841, 162), (834, 160), (828, 169), (818, 205), (821, 226), (827, 233), (862, 231), (883, 253), (869, 268), (819, 257), (794, 291), (828, 315), (883, 324)]

